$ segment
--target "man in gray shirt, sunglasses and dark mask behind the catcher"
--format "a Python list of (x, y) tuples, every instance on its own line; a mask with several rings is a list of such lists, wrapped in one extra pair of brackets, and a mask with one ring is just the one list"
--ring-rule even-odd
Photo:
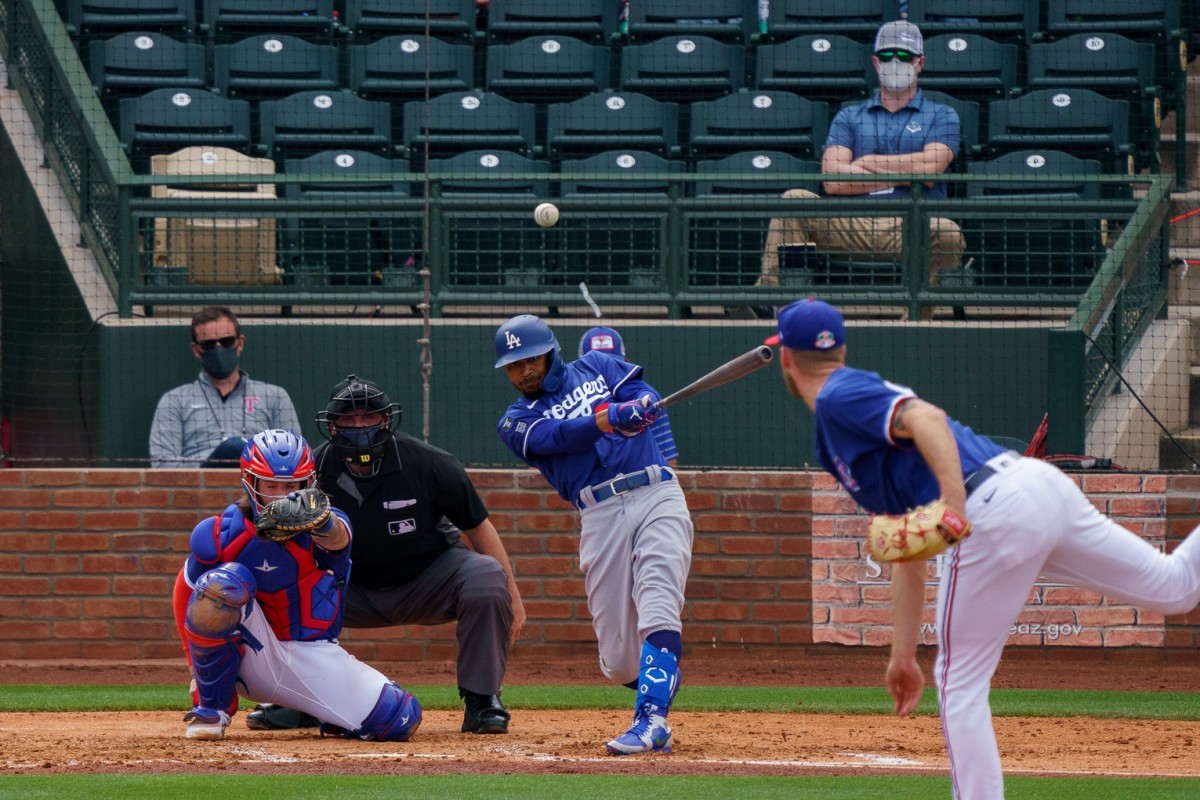
[(160, 398), (150, 425), (151, 467), (236, 467), (259, 431), (300, 433), (287, 391), (238, 367), (245, 347), (241, 324), (228, 308), (209, 306), (192, 317), (192, 355), (203, 369)]

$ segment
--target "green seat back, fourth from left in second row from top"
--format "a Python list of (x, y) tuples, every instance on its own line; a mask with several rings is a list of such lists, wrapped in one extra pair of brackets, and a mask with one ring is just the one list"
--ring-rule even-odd
[(541, 34), (487, 47), (487, 91), (528, 103), (558, 103), (608, 89), (607, 47)]

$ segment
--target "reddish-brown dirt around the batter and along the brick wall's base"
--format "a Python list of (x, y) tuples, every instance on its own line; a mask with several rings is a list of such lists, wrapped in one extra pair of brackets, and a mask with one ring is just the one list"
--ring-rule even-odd
[[(931, 654), (926, 654), (931, 655)], [(691, 685), (874, 686), (886, 652), (814, 648), (788, 657), (692, 654)], [(1200, 660), (1156, 654), (1040, 654), (1006, 660), (995, 685), (1022, 688), (1190, 691)], [(689, 664), (690, 662), (690, 664)], [(452, 663), (385, 664), (409, 684), (452, 682)], [(0, 662), (6, 684), (186, 682), (182, 662)], [(515, 656), (510, 685), (598, 684), (590, 657), (547, 663)], [(181, 690), (182, 691), (182, 690)], [(946, 770), (936, 718), (804, 714), (672, 715), (674, 753), (604, 754), (629, 723), (626, 711), (514, 709), (503, 736), (458, 732), (461, 712), (431, 711), (410, 742), (364, 742), (316, 730), (254, 732), (235, 718), (220, 742), (187, 741), (178, 711), (154, 714), (0, 714), (0, 775), (56, 772), (498, 774), (619, 772), (803, 775)], [(996, 720), (1006, 771), (1037, 775), (1200, 776), (1194, 758), (1200, 723), (1138, 720)], [(902, 744), (901, 744), (902, 741)], [(1135, 772), (1132, 770), (1136, 770)]]

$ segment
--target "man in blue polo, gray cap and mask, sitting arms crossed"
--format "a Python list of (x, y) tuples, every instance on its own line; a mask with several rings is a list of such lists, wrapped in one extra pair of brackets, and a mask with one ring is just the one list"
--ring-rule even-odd
[[(926, 100), (917, 88), (925, 64), (920, 29), (899, 19), (884, 23), (875, 35), (871, 65), (880, 89), (869, 100), (845, 106), (829, 125), (821, 156), (821, 172), (833, 175), (940, 174), (949, 169), (959, 150), (959, 115), (949, 106)], [(907, 198), (907, 182), (824, 182), (829, 196)], [(786, 198), (815, 198), (805, 190), (790, 190)], [(944, 198), (944, 182), (926, 182), (926, 198)], [(780, 247), (809, 245), (808, 252), (830, 253), (858, 260), (893, 260), (902, 248), (904, 217), (814, 217), (770, 221), (762, 255), (758, 285), (779, 285)], [(943, 269), (962, 260), (962, 230), (952, 219), (930, 219), (929, 282), (937, 283)], [(923, 319), (932, 308), (924, 308)]]

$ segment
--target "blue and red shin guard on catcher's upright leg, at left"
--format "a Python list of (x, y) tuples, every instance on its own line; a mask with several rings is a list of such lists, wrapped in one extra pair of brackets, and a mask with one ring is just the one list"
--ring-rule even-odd
[(241, 564), (222, 564), (196, 582), (184, 624), (199, 706), (233, 714), (241, 668), (241, 619), (254, 597), (254, 576)]

